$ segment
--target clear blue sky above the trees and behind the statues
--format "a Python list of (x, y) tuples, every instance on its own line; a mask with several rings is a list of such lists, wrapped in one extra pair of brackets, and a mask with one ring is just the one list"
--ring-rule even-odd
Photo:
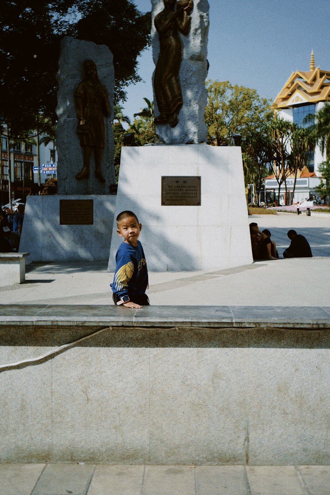
[[(330, 71), (329, 0), (208, 0), (210, 29), (208, 79), (255, 88), (274, 100), (292, 71), (309, 70), (312, 49), (315, 66)], [(150, 0), (134, 0), (141, 12)], [(139, 58), (144, 82), (127, 87), (125, 114), (152, 99), (151, 49)]]

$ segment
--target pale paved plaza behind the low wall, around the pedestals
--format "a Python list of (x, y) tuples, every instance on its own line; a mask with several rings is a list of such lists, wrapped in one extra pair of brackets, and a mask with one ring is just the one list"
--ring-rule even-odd
[[(330, 214), (252, 215), (249, 222), (271, 231), (281, 259), (211, 272), (151, 272), (150, 303), (329, 306)], [(306, 237), (313, 258), (283, 259), (289, 229)], [(112, 280), (107, 262), (31, 263), (26, 267), (26, 283), (1, 287), (0, 300), (2, 304), (112, 304)]]

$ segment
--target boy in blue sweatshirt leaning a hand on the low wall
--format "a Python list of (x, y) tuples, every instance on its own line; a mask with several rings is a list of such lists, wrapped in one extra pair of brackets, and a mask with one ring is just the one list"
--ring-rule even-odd
[(138, 237), (141, 223), (133, 211), (122, 211), (117, 216), (117, 234), (124, 238), (116, 253), (116, 271), (110, 284), (112, 299), (118, 306), (141, 308), (149, 304), (145, 293), (148, 271), (144, 252)]

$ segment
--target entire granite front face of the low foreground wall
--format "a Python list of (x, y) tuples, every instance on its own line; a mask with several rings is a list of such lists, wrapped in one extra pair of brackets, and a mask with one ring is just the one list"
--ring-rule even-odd
[[(0, 330), (1, 365), (92, 333)], [(329, 326), (112, 327), (1, 370), (0, 461), (329, 464), (329, 338)]]

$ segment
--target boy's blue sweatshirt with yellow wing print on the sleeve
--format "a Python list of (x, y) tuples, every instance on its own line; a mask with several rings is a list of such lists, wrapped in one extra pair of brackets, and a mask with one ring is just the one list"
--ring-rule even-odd
[(144, 294), (148, 285), (148, 270), (141, 242), (134, 247), (123, 242), (116, 253), (116, 271), (112, 292), (118, 297)]

